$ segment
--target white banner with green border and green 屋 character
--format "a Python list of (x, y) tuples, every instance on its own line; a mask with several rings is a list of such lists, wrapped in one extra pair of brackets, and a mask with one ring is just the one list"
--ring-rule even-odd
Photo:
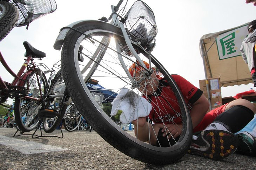
[(219, 59), (241, 56), (240, 47), (247, 36), (247, 25), (218, 35), (216, 42)]

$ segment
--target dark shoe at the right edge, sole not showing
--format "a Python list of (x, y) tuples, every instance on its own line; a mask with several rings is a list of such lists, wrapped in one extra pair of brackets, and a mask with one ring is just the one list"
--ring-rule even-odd
[(237, 153), (256, 156), (256, 140), (248, 132), (241, 132), (237, 134), (239, 139), (239, 146), (237, 148)]

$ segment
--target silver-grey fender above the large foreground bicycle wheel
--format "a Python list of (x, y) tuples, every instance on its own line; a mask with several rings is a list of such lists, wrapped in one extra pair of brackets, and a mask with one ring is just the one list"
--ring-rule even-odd
[[(80, 20), (80, 21), (76, 21), (76, 22), (73, 22), (73, 23), (69, 24), (67, 27), (71, 27), (71, 28), (76, 29), (76, 28), (80, 27), (81, 25), (92, 24), (92, 23), (109, 24), (107, 22), (99, 21), (99, 20)], [(55, 50), (60, 50), (62, 45), (63, 45), (65, 37), (67, 35), (69, 35), (70, 32), (72, 32), (72, 31), (73, 30), (71, 30), (70, 28), (63, 28), (63, 29), (61, 29), (61, 31), (59, 32), (58, 37), (55, 40), (53, 48)]]

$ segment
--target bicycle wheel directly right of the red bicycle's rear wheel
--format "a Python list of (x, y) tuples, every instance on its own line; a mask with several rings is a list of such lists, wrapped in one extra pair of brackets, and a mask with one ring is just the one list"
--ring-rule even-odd
[[(48, 108), (55, 109), (57, 111), (57, 114), (54, 118), (43, 118), (43, 130), (46, 133), (52, 133), (60, 124), (63, 115), (67, 109), (67, 106), (65, 103), (62, 104), (61, 108), (61, 100), (63, 97), (63, 93), (65, 91), (65, 83), (63, 81), (62, 77), (62, 71), (61, 69), (58, 71), (58, 73), (55, 75), (52, 83), (50, 84), (49, 88), (49, 95), (53, 96), (49, 98), (49, 105)], [(66, 97), (66, 96), (64, 96)]]

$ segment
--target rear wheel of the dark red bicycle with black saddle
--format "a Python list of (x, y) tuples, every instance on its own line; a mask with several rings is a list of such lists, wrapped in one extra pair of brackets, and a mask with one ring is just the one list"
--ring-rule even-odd
[[(43, 95), (47, 90), (47, 80), (43, 72), (37, 75), (32, 72), (25, 80), (23, 87), (27, 90), (27, 96), (41, 98), (40, 93)], [(40, 87), (40, 88), (39, 88)], [(41, 91), (40, 91), (41, 89)], [(41, 108), (41, 101), (35, 101), (28, 98), (15, 98), (14, 113), (15, 121), (18, 127), (23, 132), (32, 131), (39, 123), (38, 111)]]

